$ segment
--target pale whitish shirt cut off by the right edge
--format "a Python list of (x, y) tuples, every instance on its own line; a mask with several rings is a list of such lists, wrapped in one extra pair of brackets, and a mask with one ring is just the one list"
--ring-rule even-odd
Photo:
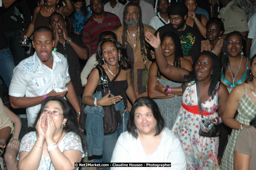
[(256, 54), (256, 13), (250, 18), (248, 27), (249, 33), (247, 38), (252, 39), (249, 57), (252, 58)]

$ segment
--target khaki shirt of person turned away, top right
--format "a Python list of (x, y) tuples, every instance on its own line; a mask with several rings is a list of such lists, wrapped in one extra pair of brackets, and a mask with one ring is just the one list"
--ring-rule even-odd
[(245, 13), (243, 12), (243, 9), (239, 8), (236, 0), (230, 1), (225, 8), (220, 9), (218, 18), (224, 23), (224, 34), (233, 31), (249, 31)]

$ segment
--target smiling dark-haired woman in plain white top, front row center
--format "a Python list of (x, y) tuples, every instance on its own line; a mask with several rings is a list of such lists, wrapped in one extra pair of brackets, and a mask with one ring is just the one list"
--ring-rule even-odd
[(111, 162), (166, 162), (171, 163), (171, 169), (186, 169), (186, 156), (179, 139), (168, 128), (164, 128), (164, 119), (158, 106), (148, 97), (139, 98), (134, 102), (127, 131), (119, 136)]

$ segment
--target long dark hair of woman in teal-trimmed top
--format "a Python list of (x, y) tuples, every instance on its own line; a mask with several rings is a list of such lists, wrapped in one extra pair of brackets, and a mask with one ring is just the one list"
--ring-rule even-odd
[[(226, 70), (228, 69), (228, 65), (229, 65), (227, 43), (228, 43), (228, 38), (231, 35), (239, 35), (241, 37), (241, 40), (242, 40), (241, 43), (243, 45), (243, 52), (244, 52), (244, 49), (245, 49), (245, 38), (243, 37), (243, 35), (240, 32), (231, 32), (231, 33), (229, 33), (227, 35), (227, 37), (225, 38), (224, 43), (223, 43), (222, 52), (220, 54), (220, 58), (221, 58), (220, 62), (221, 62), (221, 67), (222, 67), (222, 74), (224, 75), (224, 77), (225, 77)], [(246, 56), (245, 52), (244, 52), (244, 55)]]

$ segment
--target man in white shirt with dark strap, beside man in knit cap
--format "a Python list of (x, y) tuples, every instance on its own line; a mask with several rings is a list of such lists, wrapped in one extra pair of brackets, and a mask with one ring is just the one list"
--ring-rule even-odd
[(156, 7), (157, 9), (159, 9), (159, 13), (149, 21), (148, 25), (152, 26), (153, 28), (155, 28), (155, 30), (157, 30), (158, 28), (169, 24), (170, 20), (167, 13), (168, 6), (170, 6), (168, 0), (157, 1)]

